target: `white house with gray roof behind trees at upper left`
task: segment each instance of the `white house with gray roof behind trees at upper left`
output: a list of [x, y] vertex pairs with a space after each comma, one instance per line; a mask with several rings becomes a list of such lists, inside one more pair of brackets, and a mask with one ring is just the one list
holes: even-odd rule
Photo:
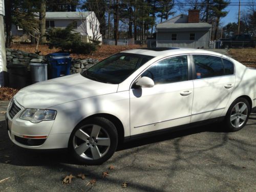
[[[36, 13], [38, 15], [38, 13]], [[75, 31], [81, 34], [82, 40], [89, 42], [90, 39], [102, 41], [99, 32], [99, 20], [93, 11], [87, 12], [46, 12], [46, 29], [66, 28], [72, 22], [76, 22]], [[12, 26], [12, 36], [24, 35], [24, 30], [19, 26]]]

